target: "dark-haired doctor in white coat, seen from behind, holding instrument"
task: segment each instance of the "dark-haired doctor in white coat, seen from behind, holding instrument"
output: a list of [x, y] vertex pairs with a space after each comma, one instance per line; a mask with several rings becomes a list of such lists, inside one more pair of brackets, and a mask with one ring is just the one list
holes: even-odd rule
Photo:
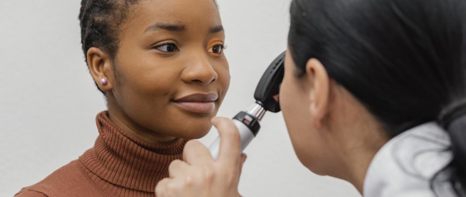
[[[466, 1], [293, 0], [280, 104], [299, 160], [364, 197], [466, 196]], [[190, 141], [157, 197], [238, 197], [233, 123]], [[304, 194], [303, 194], [304, 195]]]

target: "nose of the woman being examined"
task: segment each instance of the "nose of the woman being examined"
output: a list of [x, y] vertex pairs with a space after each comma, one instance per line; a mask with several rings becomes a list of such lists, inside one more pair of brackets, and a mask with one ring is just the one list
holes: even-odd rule
[[181, 73], [185, 83], [197, 83], [207, 86], [217, 80], [218, 74], [207, 58], [192, 59]]

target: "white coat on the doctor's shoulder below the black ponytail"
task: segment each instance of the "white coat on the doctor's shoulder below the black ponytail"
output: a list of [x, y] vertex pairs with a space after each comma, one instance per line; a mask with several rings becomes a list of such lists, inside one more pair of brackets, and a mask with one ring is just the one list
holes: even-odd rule
[[375, 155], [364, 179], [364, 197], [456, 197], [451, 184], [430, 179], [452, 160], [448, 133], [430, 122], [405, 131]]

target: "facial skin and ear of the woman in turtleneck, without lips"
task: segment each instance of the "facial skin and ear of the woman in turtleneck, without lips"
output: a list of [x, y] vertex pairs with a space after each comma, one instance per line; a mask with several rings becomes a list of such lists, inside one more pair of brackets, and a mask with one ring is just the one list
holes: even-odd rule
[[[147, 143], [204, 136], [230, 82], [224, 39], [213, 0], [144, 0], [132, 7], [120, 26], [116, 57], [95, 47], [87, 52], [111, 121]], [[174, 102], [208, 93], [218, 96], [209, 112]]]

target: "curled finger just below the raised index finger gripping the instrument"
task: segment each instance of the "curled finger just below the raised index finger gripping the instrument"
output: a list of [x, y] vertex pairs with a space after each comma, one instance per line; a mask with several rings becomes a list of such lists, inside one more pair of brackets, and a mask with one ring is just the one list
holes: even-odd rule
[[190, 140], [186, 143], [183, 158], [188, 164], [208, 164], [214, 161], [209, 149], [197, 140]]

